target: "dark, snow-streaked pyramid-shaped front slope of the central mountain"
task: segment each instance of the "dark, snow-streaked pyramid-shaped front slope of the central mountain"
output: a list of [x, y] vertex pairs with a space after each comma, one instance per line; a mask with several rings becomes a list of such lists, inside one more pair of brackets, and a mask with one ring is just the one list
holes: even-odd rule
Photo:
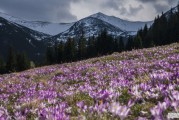
[[87, 17], [76, 22], [72, 27], [70, 27], [65, 32], [62, 32], [56, 36], [51, 37], [51, 40], [66, 40], [69, 37], [78, 38], [84, 32], [86, 38], [90, 36], [97, 36], [101, 30], [106, 29], [108, 34], [113, 36], [119, 36], [124, 31], [120, 28], [115, 27], [107, 22], [104, 22], [100, 19]]

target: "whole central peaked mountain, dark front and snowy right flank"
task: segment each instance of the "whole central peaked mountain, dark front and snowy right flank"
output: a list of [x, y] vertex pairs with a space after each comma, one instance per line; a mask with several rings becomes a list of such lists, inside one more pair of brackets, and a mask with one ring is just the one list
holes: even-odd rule
[[[67, 40], [69, 37], [78, 38], [82, 31], [86, 38], [97, 36], [101, 30], [106, 29], [108, 34], [115, 37], [135, 35], [145, 24], [150, 26], [153, 22], [131, 22], [103, 13], [96, 13], [74, 23], [68, 30], [47, 38], [51, 41]], [[45, 39], [45, 40], [47, 40]]]

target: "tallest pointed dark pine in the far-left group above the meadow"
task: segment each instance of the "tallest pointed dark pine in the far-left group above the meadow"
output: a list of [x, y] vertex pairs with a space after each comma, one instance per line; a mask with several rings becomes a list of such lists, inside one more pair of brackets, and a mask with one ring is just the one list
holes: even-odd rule
[[17, 68], [16, 54], [14, 53], [12, 47], [9, 48], [8, 58], [6, 63], [6, 70], [8, 72], [15, 72]]

